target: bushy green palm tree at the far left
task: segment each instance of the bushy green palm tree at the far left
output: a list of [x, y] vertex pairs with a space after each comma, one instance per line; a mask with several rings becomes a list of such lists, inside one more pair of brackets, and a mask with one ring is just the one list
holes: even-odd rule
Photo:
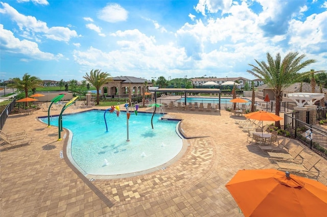
[[[24, 90], [25, 97], [29, 96], [29, 90], [40, 87], [40, 84], [42, 84], [42, 80], [40, 78], [31, 76], [28, 73], [24, 74], [21, 80], [19, 77], [14, 77], [12, 80], [13, 83], [9, 84], [8, 86], [17, 88], [18, 90]], [[28, 106], [28, 102], [26, 102], [26, 106]]]

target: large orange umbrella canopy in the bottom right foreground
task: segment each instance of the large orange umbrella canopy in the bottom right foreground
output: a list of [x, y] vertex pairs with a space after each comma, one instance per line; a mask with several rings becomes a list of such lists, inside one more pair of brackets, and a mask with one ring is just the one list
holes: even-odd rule
[[275, 169], [239, 170], [226, 184], [245, 216], [325, 216], [327, 186]]

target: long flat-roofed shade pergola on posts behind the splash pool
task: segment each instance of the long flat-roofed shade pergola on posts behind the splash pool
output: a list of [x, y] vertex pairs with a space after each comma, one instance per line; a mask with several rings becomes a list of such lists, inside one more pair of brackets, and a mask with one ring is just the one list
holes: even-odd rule
[[[220, 89], [209, 89], [209, 88], [199, 88], [199, 89], [185, 89], [185, 88], [160, 88], [156, 90], [150, 90], [151, 92], [169, 92], [169, 93], [184, 93], [184, 100], [186, 104], [186, 98], [188, 93], [218, 93], [219, 95], [219, 110], [220, 110]], [[157, 102], [157, 95], [154, 94], [154, 102]]]

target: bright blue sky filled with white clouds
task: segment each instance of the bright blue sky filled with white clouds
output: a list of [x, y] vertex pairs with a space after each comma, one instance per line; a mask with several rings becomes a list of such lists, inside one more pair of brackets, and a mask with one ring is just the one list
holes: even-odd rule
[[327, 70], [327, 1], [0, 0], [0, 79], [254, 77], [266, 53]]

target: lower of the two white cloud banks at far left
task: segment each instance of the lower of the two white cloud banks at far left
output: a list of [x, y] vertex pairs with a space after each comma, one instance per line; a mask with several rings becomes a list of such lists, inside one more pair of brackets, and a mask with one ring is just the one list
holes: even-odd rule
[[0, 44], [3, 52], [19, 53], [26, 56], [26, 60], [59, 60], [63, 56], [61, 53], [53, 55], [53, 53], [42, 52], [37, 43], [28, 40], [19, 40], [14, 34], [4, 29], [4, 25], [0, 24]]

